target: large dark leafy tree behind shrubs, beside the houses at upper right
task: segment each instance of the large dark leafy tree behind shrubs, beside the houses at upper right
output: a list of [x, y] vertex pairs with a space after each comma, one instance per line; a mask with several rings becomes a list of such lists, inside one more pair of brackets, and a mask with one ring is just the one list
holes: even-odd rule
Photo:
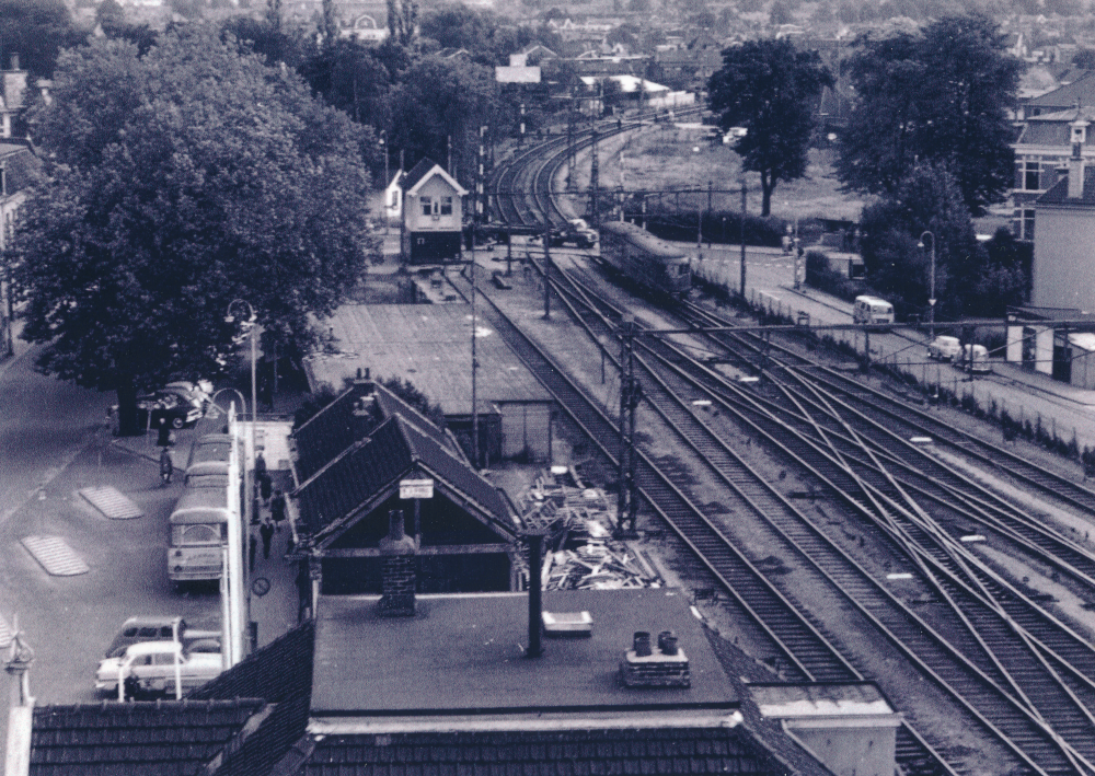
[[1019, 62], [984, 16], [948, 16], [920, 34], [864, 42], [852, 57], [855, 101], [838, 173], [852, 188], [894, 194], [915, 164], [944, 164], [975, 216], [1014, 177]]

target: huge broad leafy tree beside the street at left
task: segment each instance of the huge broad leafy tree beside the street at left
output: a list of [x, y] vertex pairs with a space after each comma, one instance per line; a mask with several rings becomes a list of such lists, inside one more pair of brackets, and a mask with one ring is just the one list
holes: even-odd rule
[[31, 121], [48, 165], [14, 239], [23, 336], [47, 372], [116, 390], [124, 431], [139, 389], [218, 368], [232, 300], [303, 348], [376, 255], [356, 125], [207, 28], [62, 54]]

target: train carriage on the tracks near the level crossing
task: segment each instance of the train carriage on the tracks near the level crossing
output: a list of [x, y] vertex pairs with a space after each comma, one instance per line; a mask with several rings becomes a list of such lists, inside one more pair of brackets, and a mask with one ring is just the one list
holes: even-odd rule
[[627, 221], [601, 224], [601, 260], [657, 293], [681, 298], [692, 288], [691, 259], [684, 251]]

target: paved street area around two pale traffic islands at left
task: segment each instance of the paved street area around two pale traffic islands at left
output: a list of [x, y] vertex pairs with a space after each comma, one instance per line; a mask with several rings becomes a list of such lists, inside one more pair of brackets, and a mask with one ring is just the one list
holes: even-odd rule
[[[208, 623], [217, 591], [181, 595], [169, 584], [166, 516], [182, 486], [161, 487], [154, 462], [108, 444], [114, 395], [36, 373], [25, 344], [16, 352], [0, 366], [0, 616], [18, 615], [35, 650], [38, 704], [90, 702], [99, 658], [127, 616]], [[78, 495], [89, 485], [113, 485], [145, 516], [107, 520]], [[32, 534], [62, 537], [90, 571], [48, 576], [20, 544]]]

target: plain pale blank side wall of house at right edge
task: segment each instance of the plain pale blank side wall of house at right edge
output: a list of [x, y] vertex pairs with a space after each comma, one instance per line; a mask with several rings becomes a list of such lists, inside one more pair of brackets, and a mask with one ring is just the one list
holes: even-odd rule
[[1095, 312], [1095, 209], [1044, 206], [1036, 218], [1030, 304]]

